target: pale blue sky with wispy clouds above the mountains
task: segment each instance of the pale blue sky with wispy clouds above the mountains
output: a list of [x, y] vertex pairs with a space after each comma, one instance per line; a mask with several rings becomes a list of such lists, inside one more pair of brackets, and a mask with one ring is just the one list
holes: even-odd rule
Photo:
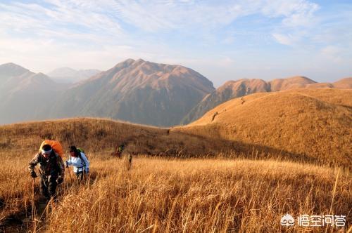
[[228, 80], [352, 76], [352, 1], [0, 0], [0, 64], [110, 69], [128, 58]]

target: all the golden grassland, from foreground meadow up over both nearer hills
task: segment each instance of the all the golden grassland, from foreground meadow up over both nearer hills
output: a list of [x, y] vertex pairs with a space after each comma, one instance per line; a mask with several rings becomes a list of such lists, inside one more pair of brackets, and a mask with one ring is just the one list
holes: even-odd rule
[[[326, 231], [352, 232], [351, 101], [351, 90], [258, 93], [170, 129], [89, 118], [0, 126], [0, 231], [325, 231], [282, 227], [289, 213], [346, 215], [344, 229]], [[27, 171], [44, 139], [92, 162], [85, 185], [66, 171], [46, 211]], [[132, 166], [111, 157], [120, 143]]]

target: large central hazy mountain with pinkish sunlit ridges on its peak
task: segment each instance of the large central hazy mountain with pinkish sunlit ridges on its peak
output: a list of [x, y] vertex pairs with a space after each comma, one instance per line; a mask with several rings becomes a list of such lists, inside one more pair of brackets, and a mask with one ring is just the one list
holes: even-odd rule
[[213, 84], [192, 69], [144, 60], [125, 60], [73, 86], [52, 116], [103, 116], [139, 124], [179, 124]]

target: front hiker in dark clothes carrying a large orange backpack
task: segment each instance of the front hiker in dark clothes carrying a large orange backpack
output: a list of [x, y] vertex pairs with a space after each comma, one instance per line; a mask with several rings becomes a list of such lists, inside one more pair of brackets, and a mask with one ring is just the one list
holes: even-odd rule
[[42, 195], [49, 200], [56, 199], [56, 187], [63, 182], [65, 166], [61, 157], [56, 154], [51, 145], [43, 145], [28, 164], [32, 178], [37, 178], [34, 168], [39, 164], [40, 190]]

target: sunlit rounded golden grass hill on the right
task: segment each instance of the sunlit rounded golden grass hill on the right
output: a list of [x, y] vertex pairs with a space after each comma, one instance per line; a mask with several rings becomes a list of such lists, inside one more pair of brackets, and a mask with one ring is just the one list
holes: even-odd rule
[[215, 107], [172, 131], [282, 149], [351, 167], [352, 90], [256, 93]]

